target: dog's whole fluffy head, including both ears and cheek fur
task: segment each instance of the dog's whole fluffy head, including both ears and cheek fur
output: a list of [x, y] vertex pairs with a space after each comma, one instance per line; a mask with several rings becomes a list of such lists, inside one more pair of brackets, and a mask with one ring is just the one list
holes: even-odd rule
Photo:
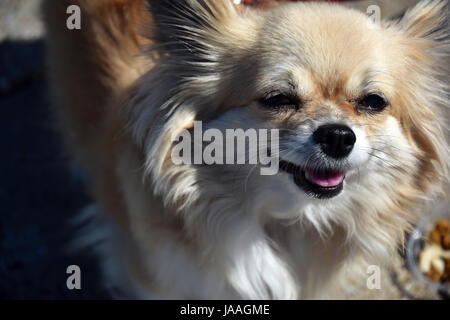
[[[211, 214], [401, 229], [406, 204], [439, 190], [448, 156], [444, 2], [422, 2], [380, 24], [332, 4], [150, 7], [159, 61], [142, 79], [130, 119], [167, 205], [186, 217], [217, 203]], [[224, 137], [227, 129], [277, 129], [279, 148], [269, 136], [258, 149], [279, 159], [279, 172], [174, 164], [175, 137], [194, 133], [196, 120]]]

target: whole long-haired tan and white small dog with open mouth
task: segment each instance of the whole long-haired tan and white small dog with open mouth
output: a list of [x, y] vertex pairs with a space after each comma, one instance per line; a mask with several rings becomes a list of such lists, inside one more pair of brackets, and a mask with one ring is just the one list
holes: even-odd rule
[[[72, 4], [80, 30], [66, 28]], [[140, 297], [365, 288], [447, 178], [446, 8], [423, 1], [377, 24], [330, 3], [48, 0], [58, 124], [121, 230], [108, 267]], [[278, 151], [257, 148], [279, 172], [175, 164], [195, 121], [277, 129]]]

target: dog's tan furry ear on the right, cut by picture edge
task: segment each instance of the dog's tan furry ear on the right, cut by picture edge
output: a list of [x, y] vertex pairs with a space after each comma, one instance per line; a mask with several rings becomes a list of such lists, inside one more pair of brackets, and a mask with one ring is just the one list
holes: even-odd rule
[[424, 191], [439, 191], [439, 182], [448, 181], [448, 74], [450, 42], [448, 3], [425, 0], [410, 9], [393, 27], [406, 36], [405, 62], [409, 76], [403, 86], [412, 94], [399, 97], [404, 114], [399, 115], [410, 140], [421, 157], [421, 176], [417, 184]]

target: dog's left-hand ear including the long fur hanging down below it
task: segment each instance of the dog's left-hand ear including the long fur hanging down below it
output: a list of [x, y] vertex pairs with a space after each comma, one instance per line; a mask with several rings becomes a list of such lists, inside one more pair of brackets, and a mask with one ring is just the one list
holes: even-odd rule
[[[189, 128], [193, 119], [208, 118], [209, 112], [213, 113], [220, 105], [218, 88], [227, 85], [226, 75], [230, 71], [227, 68], [241, 65], [230, 60], [243, 59], [244, 54], [236, 52], [248, 49], [256, 33], [248, 32], [254, 29], [250, 26], [252, 19], [244, 18], [251, 12], [240, 12], [228, 0], [148, 0], [148, 3], [153, 19], [150, 37], [159, 61], [142, 80], [145, 83], [137, 90], [128, 114], [140, 145], [146, 144], [149, 124], [159, 117], [160, 123], [166, 124], [164, 141], [171, 141], [172, 135], [176, 135], [175, 128]], [[201, 106], [208, 108], [198, 115], [196, 110]], [[144, 110], [147, 111], [142, 115]], [[178, 121], [180, 114], [184, 122], [174, 126], [171, 121]], [[163, 150], [168, 149], [159, 152]], [[148, 162], [152, 159], [149, 156]], [[161, 166], [162, 163], [156, 167]]]

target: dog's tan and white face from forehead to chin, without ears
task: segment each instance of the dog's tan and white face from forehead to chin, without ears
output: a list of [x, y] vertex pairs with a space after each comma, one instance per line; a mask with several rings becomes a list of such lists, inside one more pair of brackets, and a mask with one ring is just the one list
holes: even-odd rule
[[331, 199], [376, 163], [385, 171], [416, 165], [394, 110], [407, 66], [393, 35], [335, 6], [286, 5], [263, 19], [253, 67], [231, 81], [249, 110], [230, 113], [280, 130], [281, 176], [299, 193]]

